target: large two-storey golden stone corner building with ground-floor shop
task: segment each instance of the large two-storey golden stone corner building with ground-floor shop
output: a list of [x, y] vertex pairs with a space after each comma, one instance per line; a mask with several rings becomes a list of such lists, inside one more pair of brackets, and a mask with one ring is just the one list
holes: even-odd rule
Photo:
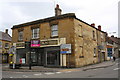
[[[59, 5], [55, 16], [12, 27], [12, 43], [16, 44], [16, 61], [23, 59], [29, 64], [29, 50], [26, 41], [31, 44], [32, 65], [53, 67], [81, 67], [106, 60], [106, 32], [101, 26], [88, 24], [74, 13], [61, 14]], [[71, 54], [61, 54], [61, 44], [71, 44]]]

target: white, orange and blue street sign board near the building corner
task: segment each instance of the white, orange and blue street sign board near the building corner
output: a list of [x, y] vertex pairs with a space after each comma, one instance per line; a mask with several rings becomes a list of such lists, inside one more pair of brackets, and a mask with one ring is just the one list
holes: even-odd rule
[[71, 53], [71, 44], [62, 44], [60, 46], [60, 53], [65, 54], [65, 53]]

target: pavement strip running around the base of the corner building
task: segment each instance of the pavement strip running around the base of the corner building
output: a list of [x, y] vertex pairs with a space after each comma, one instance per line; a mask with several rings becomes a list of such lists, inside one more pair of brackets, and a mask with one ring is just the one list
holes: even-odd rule
[[2, 65], [2, 71], [15, 71], [15, 72], [66, 72], [66, 71], [86, 71], [90, 69], [97, 68], [106, 68], [109, 66], [113, 66], [115, 62], [113, 61], [105, 61], [98, 64], [88, 65], [81, 68], [47, 68], [43, 66], [32, 66], [32, 69], [29, 70], [29, 67], [21, 67], [20, 69], [9, 69], [8, 64]]

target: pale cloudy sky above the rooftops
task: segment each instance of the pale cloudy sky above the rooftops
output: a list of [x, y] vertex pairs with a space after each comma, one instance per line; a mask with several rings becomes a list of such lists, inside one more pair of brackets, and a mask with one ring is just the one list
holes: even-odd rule
[[[0, 0], [0, 31], [55, 15], [59, 4], [62, 14], [75, 13], [76, 17], [102, 26], [109, 36], [118, 36], [118, 2], [120, 0]], [[116, 32], [116, 33], [115, 33]]]

